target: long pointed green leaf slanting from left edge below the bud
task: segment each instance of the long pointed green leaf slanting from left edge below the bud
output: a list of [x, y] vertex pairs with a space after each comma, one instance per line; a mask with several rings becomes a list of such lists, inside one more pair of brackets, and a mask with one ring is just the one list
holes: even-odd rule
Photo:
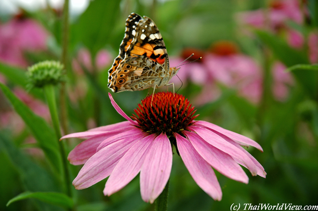
[[43, 118], [36, 115], [28, 106], [24, 105], [6, 86], [0, 83], [0, 88], [14, 107], [14, 110], [29, 127], [54, 170], [56, 172], [61, 172], [62, 162], [58, 150], [58, 138], [52, 128]]

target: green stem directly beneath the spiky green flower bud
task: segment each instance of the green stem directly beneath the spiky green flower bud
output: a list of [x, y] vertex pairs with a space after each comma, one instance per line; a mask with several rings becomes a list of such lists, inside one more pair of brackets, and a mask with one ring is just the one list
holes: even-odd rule
[[48, 106], [50, 109], [54, 131], [55, 131], [55, 134], [58, 138], [57, 141], [59, 143], [60, 154], [62, 156], [63, 169], [61, 170], [62, 171], [61, 174], [64, 175], [66, 193], [68, 194], [68, 196], [72, 197], [71, 196], [71, 187], [70, 187], [71, 181], [70, 181], [70, 174], [69, 174], [69, 169], [68, 169], [68, 160], [66, 158], [64, 144], [63, 144], [63, 142], [59, 141], [59, 139], [62, 137], [62, 135], [61, 135], [60, 121], [59, 121], [58, 111], [57, 111], [56, 101], [55, 101], [54, 86], [49, 84], [49, 85], [44, 86], [43, 89], [44, 89], [45, 97], [46, 97], [46, 100], [47, 100], [47, 103], [48, 103]]

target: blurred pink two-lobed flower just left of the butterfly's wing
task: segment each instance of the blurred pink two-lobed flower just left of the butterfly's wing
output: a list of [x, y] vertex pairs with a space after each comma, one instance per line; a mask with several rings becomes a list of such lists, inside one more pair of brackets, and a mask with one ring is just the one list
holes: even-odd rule
[[[97, 70], [104, 69], [111, 62], [111, 55], [106, 50], [100, 50], [96, 54], [95, 65]], [[78, 52], [77, 58], [74, 58], [72, 61], [73, 69], [78, 74], [83, 74], [83, 67], [85, 67], [88, 71], [92, 71], [93, 65], [91, 63], [91, 55], [87, 49], [80, 49]]]

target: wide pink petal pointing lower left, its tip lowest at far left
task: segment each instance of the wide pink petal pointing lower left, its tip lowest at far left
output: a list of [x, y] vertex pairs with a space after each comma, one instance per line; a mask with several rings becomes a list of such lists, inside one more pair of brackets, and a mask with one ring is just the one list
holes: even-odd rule
[[89, 158], [73, 181], [75, 188], [88, 188], [108, 177], [119, 160], [138, 142], [138, 140], [134, 139], [135, 135], [132, 133], [130, 138], [114, 142]]

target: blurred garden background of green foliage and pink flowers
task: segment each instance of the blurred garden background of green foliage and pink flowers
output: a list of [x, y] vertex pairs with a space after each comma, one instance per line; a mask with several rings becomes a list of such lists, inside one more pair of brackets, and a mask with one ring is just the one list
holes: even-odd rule
[[[42, 91], [34, 89], [21, 94], [19, 90], [25, 90], [28, 65], [61, 59], [62, 6], [49, 3], [37, 9], [16, 7], [13, 13], [0, 10], [0, 81], [33, 112], [38, 112], [49, 129], [51, 122], [45, 114]], [[196, 113], [200, 114], [197, 120], [250, 137], [264, 150], [261, 153], [252, 147], [247, 149], [263, 165], [266, 179], [252, 177], [244, 169], [249, 177], [246, 185], [216, 172], [223, 191], [220, 202], [197, 186], [181, 158], [174, 154], [168, 210], [230, 210], [233, 203], [318, 205], [318, 75], [317, 66], [312, 65], [318, 61], [317, 0], [88, 1], [82, 12], [70, 15], [66, 65], [69, 133], [124, 121], [110, 104], [107, 71], [117, 56], [125, 20], [131, 12], [155, 21], [171, 64], [191, 53], [203, 56], [191, 66], [182, 66], [178, 74], [183, 82], [178, 93], [196, 106]], [[37, 28], [22, 33], [26, 20], [40, 26], [41, 33]], [[15, 26], [14, 21], [19, 25]], [[40, 39], [32, 33], [45, 37], [42, 46], [32, 44]], [[99, 57], [101, 51], [104, 57]], [[282, 66], [281, 72], [274, 68], [277, 62]], [[297, 64], [302, 65], [294, 66]], [[290, 72], [284, 72], [290, 67]], [[206, 78], [197, 80], [192, 71]], [[178, 79], [174, 82], [179, 89]], [[130, 115], [147, 92], [112, 96]], [[24, 191], [60, 192], [61, 187], [40, 144], [32, 141], [42, 120], [23, 123], [2, 92], [0, 120], [0, 210], [63, 210], [36, 199], [5, 206]], [[42, 132], [43, 136], [35, 136], [37, 141], [52, 131]], [[79, 142], [70, 140], [67, 151]], [[72, 179], [80, 167], [71, 166]], [[154, 205], [141, 199], [139, 175], [110, 197], [102, 193], [105, 181], [84, 190], [73, 188], [77, 211], [154, 210]]]

